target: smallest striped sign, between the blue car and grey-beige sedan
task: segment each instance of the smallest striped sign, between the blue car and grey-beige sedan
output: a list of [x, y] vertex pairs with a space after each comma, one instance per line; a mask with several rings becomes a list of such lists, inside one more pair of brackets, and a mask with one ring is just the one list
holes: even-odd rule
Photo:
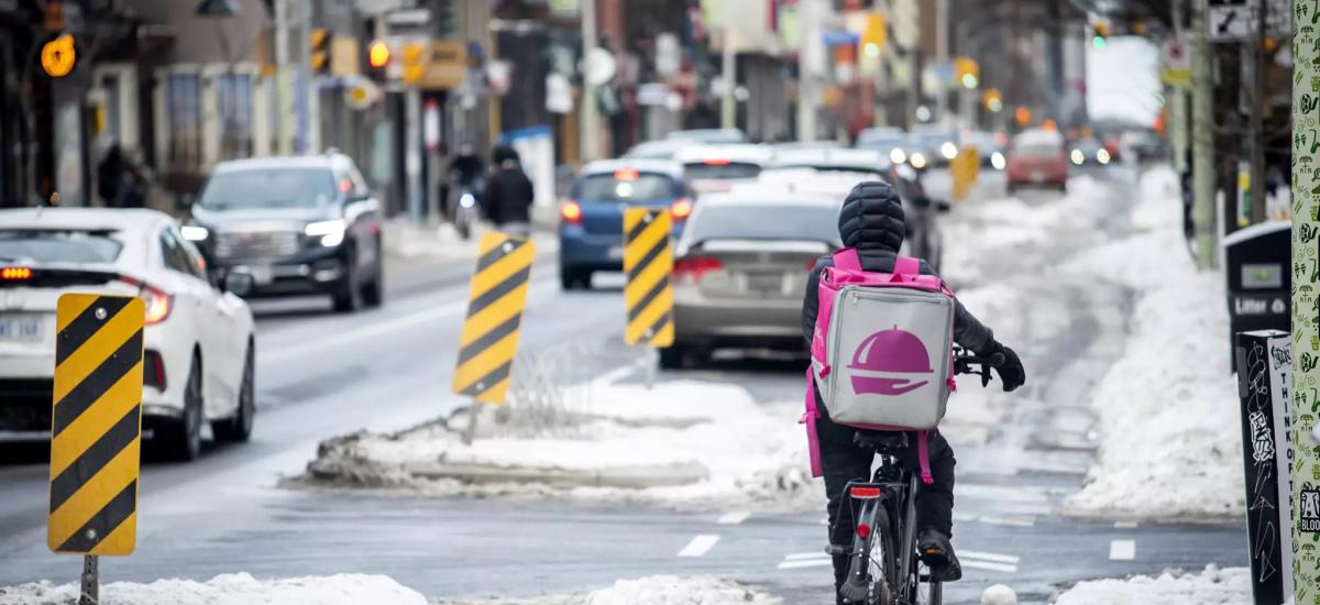
[[665, 210], [635, 207], [623, 213], [623, 271], [628, 276], [623, 287], [628, 313], [623, 341], [628, 345], [673, 345], [671, 226]]

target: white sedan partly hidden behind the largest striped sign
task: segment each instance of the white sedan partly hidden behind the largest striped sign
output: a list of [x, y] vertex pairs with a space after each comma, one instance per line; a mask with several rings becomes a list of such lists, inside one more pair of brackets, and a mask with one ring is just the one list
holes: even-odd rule
[[[228, 285], [243, 288], [243, 277]], [[145, 302], [143, 420], [153, 441], [193, 460], [205, 421], [216, 440], [247, 441], [252, 312], [207, 280], [178, 223], [154, 210], [0, 210], [0, 431], [50, 429], [55, 302], [69, 292]]]

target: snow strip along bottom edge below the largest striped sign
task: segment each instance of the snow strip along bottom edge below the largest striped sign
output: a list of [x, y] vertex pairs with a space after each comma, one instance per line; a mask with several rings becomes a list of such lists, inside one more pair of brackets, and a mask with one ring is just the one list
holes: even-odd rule
[[[78, 585], [50, 581], [0, 587], [4, 605], [63, 605], [78, 601]], [[150, 584], [114, 583], [100, 588], [106, 605], [426, 605], [426, 597], [385, 576], [337, 575], [257, 580], [248, 573], [224, 573], [205, 583], [157, 580]]]

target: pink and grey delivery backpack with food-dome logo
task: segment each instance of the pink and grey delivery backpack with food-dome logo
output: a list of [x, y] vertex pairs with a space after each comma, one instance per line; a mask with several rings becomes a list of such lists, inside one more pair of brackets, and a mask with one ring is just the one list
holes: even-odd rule
[[921, 262], [899, 256], [892, 273], [862, 271], [857, 250], [834, 252], [821, 272], [820, 312], [807, 369], [807, 437], [821, 476], [812, 383], [830, 420], [867, 431], [916, 431], [921, 481], [931, 483], [928, 431], [944, 419], [953, 382], [953, 291]]

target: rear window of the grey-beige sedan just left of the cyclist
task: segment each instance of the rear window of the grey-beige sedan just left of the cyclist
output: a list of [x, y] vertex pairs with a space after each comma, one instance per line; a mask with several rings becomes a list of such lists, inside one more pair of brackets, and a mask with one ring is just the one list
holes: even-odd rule
[[702, 207], [688, 222], [690, 242], [711, 239], [838, 240], [838, 209], [818, 205], [729, 203]]

